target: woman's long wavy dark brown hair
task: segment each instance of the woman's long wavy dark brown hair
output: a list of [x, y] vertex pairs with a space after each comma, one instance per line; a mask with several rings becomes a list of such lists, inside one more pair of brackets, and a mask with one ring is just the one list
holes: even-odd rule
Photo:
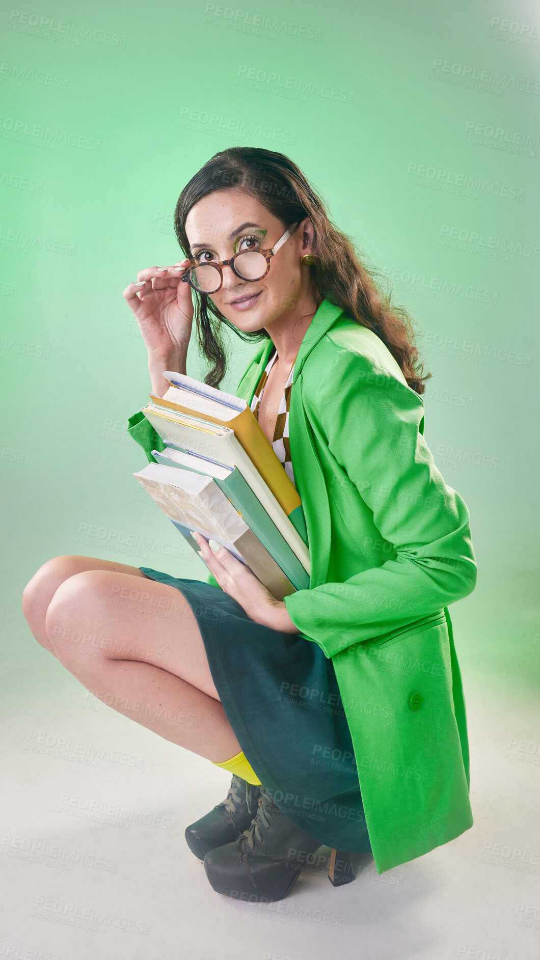
[[[174, 226], [185, 256], [190, 257], [185, 233], [185, 218], [191, 207], [215, 190], [237, 190], [256, 197], [282, 221], [283, 229], [306, 217], [314, 228], [315, 262], [309, 267], [313, 295], [320, 304], [331, 300], [358, 324], [373, 330], [399, 364], [409, 387], [417, 394], [426, 390], [424, 381], [431, 373], [421, 368], [419, 351], [414, 346], [412, 322], [402, 306], [392, 303], [392, 293], [384, 289], [389, 281], [366, 257], [360, 259], [354, 242], [336, 228], [320, 197], [302, 170], [288, 156], [258, 147], [231, 147], [210, 157], [184, 186], [176, 204]], [[377, 276], [377, 279], [376, 279]], [[252, 333], [238, 330], [217, 309], [207, 294], [195, 294], [195, 321], [199, 347], [209, 366], [205, 382], [219, 387], [227, 372], [227, 355], [221, 331], [230, 327], [244, 341], [268, 340], [263, 328]]]

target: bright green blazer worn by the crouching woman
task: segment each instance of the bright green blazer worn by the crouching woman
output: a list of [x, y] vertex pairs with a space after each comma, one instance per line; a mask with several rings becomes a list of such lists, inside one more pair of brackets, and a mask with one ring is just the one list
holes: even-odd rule
[[[272, 348], [259, 345], [240, 379], [248, 403]], [[140, 411], [128, 429], [153, 460], [164, 444]], [[448, 612], [476, 585], [470, 516], [424, 440], [422, 397], [380, 338], [329, 300], [295, 361], [289, 433], [311, 574], [284, 602], [333, 662], [383, 873], [473, 825]]]

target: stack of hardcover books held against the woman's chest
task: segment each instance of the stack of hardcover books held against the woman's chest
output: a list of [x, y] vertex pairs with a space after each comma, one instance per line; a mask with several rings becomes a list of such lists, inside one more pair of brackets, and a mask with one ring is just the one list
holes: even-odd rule
[[300, 496], [246, 400], [163, 372], [162, 397], [142, 407], [165, 445], [134, 476], [198, 553], [190, 531], [217, 540], [277, 600], [309, 588]]

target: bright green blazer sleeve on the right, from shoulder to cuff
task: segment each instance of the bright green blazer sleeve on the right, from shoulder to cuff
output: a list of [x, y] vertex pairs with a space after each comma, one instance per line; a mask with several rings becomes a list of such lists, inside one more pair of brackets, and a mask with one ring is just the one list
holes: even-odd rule
[[415, 391], [377, 361], [339, 350], [306, 395], [307, 416], [334, 469], [355, 484], [395, 553], [344, 583], [285, 597], [298, 630], [331, 658], [467, 596], [477, 565], [469, 512], [434, 463]]

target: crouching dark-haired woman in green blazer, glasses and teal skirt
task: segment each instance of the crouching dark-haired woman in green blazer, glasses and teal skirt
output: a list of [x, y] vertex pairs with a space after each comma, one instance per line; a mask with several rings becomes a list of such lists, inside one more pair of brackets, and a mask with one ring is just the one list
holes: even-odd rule
[[[226, 372], [223, 325], [258, 343], [236, 393], [300, 493], [309, 589], [279, 602], [195, 534], [207, 582], [58, 557], [23, 609], [89, 690], [144, 726], [158, 713], [152, 729], [233, 774], [187, 843], [218, 893], [280, 900], [321, 845], [338, 884], [354, 878], [352, 853], [371, 849], [381, 872], [472, 825], [446, 606], [475, 587], [469, 514], [423, 438], [430, 374], [408, 317], [296, 164], [255, 148], [213, 156], [175, 228], [186, 258], [124, 290], [152, 392], [167, 390], [163, 371], [186, 372], [192, 297], [211, 386]], [[128, 428], [154, 460], [164, 444], [140, 411]], [[69, 640], [86, 628], [91, 651]]]

